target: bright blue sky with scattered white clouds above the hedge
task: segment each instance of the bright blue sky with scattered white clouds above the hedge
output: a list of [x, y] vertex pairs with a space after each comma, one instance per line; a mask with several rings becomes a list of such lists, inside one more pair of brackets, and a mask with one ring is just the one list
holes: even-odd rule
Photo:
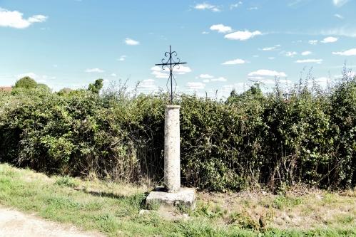
[[356, 69], [355, 0], [0, 0], [0, 85], [30, 75], [54, 90], [96, 78], [146, 93], [166, 88], [154, 67], [172, 45], [187, 65], [178, 90], [198, 95], [297, 83]]

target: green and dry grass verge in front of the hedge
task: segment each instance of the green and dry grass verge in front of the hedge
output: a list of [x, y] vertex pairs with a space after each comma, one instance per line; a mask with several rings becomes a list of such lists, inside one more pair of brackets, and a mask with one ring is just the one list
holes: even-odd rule
[[[92, 236], [99, 232], [105, 236], [356, 236], [355, 190], [198, 192], [195, 211], [178, 207], [173, 216], [183, 212], [190, 216], [179, 219], [159, 214], [159, 206], [145, 206], [149, 190], [142, 185], [48, 177], [0, 164], [0, 205], [35, 221], [24, 226], [29, 231], [44, 223], [41, 227], [49, 226], [59, 234], [73, 231], [66, 236], [86, 234], [71, 226], [96, 231]], [[5, 212], [0, 211], [4, 218]], [[4, 230], [1, 224], [0, 229]]]

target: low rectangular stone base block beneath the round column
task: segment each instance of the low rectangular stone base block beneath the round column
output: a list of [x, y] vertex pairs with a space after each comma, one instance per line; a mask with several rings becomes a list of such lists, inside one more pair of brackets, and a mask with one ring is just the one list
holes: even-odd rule
[[159, 204], [160, 208], [187, 208], [195, 209], [195, 189], [181, 188], [176, 193], [163, 191], [162, 187], [156, 188], [146, 198], [146, 205]]

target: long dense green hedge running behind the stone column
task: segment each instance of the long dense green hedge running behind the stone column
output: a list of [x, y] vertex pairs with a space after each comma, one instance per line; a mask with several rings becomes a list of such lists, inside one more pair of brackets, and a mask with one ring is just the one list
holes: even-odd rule
[[[258, 86], [228, 100], [181, 95], [182, 182], [206, 190], [355, 186], [356, 79], [288, 95]], [[156, 183], [169, 98], [39, 88], [0, 94], [0, 161], [76, 176]]]

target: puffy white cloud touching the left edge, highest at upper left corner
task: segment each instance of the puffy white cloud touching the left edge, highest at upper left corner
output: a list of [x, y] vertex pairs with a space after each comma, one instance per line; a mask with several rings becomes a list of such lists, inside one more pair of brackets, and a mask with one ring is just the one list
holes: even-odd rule
[[0, 26], [3, 27], [27, 28], [32, 23], [44, 22], [47, 18], [47, 16], [35, 15], [29, 19], [24, 19], [23, 14], [19, 11], [9, 11], [0, 8]]

